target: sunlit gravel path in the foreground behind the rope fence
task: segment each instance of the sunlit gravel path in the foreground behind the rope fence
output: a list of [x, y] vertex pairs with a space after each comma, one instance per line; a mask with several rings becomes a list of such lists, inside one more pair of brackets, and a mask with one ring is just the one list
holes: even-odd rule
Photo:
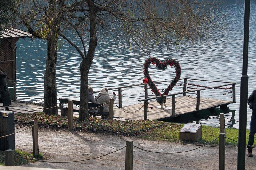
[[[39, 130], [39, 152], [50, 161], [72, 161], [97, 157], [113, 152], [125, 146], [125, 141], [134, 141], [134, 145], [158, 151], [180, 152], [198, 146], [182, 145], [164, 141], [151, 141], [141, 138], [110, 136], [87, 132], [66, 130]], [[33, 152], [32, 130], [15, 135], [16, 149]], [[178, 154], [150, 153], [134, 148], [133, 169], [218, 169], [219, 148], [203, 147], [191, 152]], [[225, 169], [236, 169], [237, 148], [225, 150]], [[24, 166], [60, 168], [60, 169], [124, 169], [125, 148], [110, 155], [77, 163], [33, 163]], [[246, 156], [246, 169], [256, 169], [256, 156]]]

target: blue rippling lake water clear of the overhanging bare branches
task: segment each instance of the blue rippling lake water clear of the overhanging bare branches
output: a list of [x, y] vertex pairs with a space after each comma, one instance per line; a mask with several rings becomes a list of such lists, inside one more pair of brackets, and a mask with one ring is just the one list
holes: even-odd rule
[[[180, 49], [171, 47], [168, 50], [151, 51], [150, 56], [165, 60], [167, 57], [180, 62], [181, 77], [207, 79], [216, 81], [236, 82], [236, 103], [228, 105], [230, 111], [225, 113], [228, 118], [239, 119], [239, 91], [240, 76], [242, 74], [243, 57], [243, 29], [244, 29], [244, 1], [227, 1], [221, 4], [220, 11], [225, 15], [218, 22], [226, 24], [225, 31], [214, 32], [214, 37], [194, 46], [181, 46]], [[251, 1], [250, 11], [250, 38], [249, 38], [249, 90], [256, 89], [256, 1]], [[216, 15], [218, 11], [216, 10]], [[117, 87], [141, 83], [143, 79], [143, 63], [149, 56], [140, 48], [132, 46], [119, 39], [117, 43], [112, 38], [101, 36], [92, 62], [89, 74], [89, 85], [94, 90], [101, 87]], [[17, 98], [18, 100], [36, 101], [44, 96], [43, 75], [45, 71], [46, 43], [43, 40], [20, 39], [17, 42]], [[80, 55], [68, 44], [63, 44], [58, 52], [57, 60], [57, 91], [59, 97], [79, 98], [80, 89]], [[154, 81], [172, 79], [175, 75], [173, 69], [158, 71], [150, 67], [151, 77]], [[180, 81], [182, 82], [182, 81]], [[201, 85], [219, 85], [221, 83], [207, 83], [188, 81], [188, 83]], [[164, 89], [168, 83], [157, 84]], [[180, 92], [182, 87], [175, 87], [172, 92]], [[232, 93], [223, 95], [230, 90], [205, 90], [201, 97], [217, 98], [232, 101]], [[118, 93], [118, 91], [116, 91]], [[149, 97], [153, 94], [148, 91]], [[141, 87], [123, 89], [123, 106], [139, 103], [137, 100], [144, 97]], [[195, 93], [191, 96], [196, 96]], [[221, 110], [216, 109], [219, 113]], [[210, 112], [201, 114], [203, 118], [212, 117]], [[251, 110], [248, 107], [247, 123], [250, 123]], [[191, 116], [191, 118], [193, 118]], [[194, 119], [194, 118], [193, 118]], [[201, 121], [202, 124], [219, 126], [219, 119]], [[228, 127], [238, 128], [234, 121], [226, 120]], [[249, 126], [248, 126], [249, 127]], [[247, 128], [248, 128], [247, 127]]]

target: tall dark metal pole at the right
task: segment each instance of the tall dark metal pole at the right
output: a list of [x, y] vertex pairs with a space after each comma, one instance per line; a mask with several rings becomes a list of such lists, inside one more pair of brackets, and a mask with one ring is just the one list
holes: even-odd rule
[[249, 16], [250, 0], [244, 4], [244, 47], [243, 47], [243, 72], [241, 76], [240, 106], [239, 106], [239, 132], [237, 169], [245, 169], [245, 145], [246, 145], [246, 121], [247, 121], [247, 97], [248, 97], [248, 44], [249, 44]]

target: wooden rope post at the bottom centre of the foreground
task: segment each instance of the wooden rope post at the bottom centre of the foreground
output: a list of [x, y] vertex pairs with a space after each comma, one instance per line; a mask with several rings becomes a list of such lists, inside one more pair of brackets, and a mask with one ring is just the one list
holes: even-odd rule
[[125, 170], [132, 170], [133, 166], [133, 141], [126, 141]]

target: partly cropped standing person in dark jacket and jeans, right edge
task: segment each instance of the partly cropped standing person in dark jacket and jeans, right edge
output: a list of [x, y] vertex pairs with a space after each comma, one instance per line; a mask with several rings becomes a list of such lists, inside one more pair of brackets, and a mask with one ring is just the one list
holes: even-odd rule
[[[252, 94], [248, 97], [248, 105], [249, 108], [252, 109], [248, 145], [252, 146], [254, 142], [254, 135], [256, 132], [256, 90], [253, 90]], [[247, 146], [248, 156], [252, 157], [252, 147], [250, 146]]]

